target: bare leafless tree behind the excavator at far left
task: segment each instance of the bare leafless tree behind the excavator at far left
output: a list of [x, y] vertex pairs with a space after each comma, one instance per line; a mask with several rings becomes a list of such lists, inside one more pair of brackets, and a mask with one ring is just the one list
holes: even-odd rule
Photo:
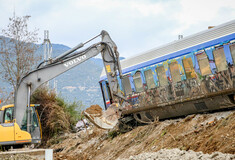
[[9, 18], [6, 29], [0, 37], [0, 74], [3, 81], [14, 91], [20, 79], [26, 75], [40, 59], [35, 54], [38, 42], [38, 29], [29, 31], [30, 16]]

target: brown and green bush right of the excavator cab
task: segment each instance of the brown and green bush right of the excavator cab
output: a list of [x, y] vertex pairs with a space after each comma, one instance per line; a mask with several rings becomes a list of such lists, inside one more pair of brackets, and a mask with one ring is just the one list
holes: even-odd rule
[[46, 87], [34, 92], [31, 97], [32, 104], [37, 107], [42, 126], [42, 145], [54, 136], [69, 133], [81, 118], [82, 102], [66, 103], [56, 93]]

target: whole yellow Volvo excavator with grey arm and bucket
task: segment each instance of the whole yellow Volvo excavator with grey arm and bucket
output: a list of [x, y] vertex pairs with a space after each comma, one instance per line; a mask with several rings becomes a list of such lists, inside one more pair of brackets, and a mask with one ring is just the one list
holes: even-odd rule
[[[99, 36], [102, 38], [100, 42], [78, 51], [79, 48], [82, 48], [85, 44]], [[45, 82], [99, 53], [101, 53], [106, 68], [112, 99], [123, 98], [118, 92], [119, 84], [117, 75], [119, 74], [121, 76], [122, 71], [117, 46], [109, 34], [106, 31], [102, 31], [99, 35], [85, 43], [78, 44], [62, 55], [48, 61], [43, 61], [37, 69], [31, 71], [21, 79], [15, 91], [14, 104], [2, 105], [0, 108], [0, 145], [13, 146], [40, 143], [42, 138], [41, 124], [36, 111], [37, 105], [30, 104], [31, 94]], [[111, 114], [113, 114], [112, 111]], [[86, 115], [101, 128], [112, 128], [117, 122], [117, 118], [114, 121], [111, 119], [106, 121], [104, 120], [106, 118], [104, 116], [102, 119], [94, 119], [89, 114]]]

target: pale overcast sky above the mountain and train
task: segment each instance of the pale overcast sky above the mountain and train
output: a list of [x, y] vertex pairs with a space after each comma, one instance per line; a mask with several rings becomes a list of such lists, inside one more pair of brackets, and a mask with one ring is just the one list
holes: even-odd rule
[[106, 30], [130, 57], [234, 20], [235, 0], [0, 0], [0, 29], [14, 10], [31, 15], [41, 42], [44, 30], [52, 43], [69, 47]]

